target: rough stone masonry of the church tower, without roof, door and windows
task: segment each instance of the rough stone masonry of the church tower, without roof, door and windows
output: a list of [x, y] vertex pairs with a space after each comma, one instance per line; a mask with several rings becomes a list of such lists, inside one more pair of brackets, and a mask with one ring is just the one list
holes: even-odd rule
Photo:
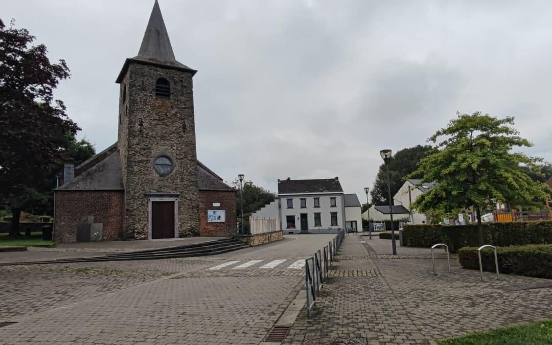
[[[169, 99], [155, 97], [158, 78], [169, 81]], [[145, 193], [179, 194], [179, 236], [199, 235], [192, 75], [131, 62], [121, 82], [119, 112], [126, 236], [147, 238], [148, 197]], [[167, 176], [159, 176], [153, 168], [153, 161], [160, 155], [173, 161], [173, 171]]]

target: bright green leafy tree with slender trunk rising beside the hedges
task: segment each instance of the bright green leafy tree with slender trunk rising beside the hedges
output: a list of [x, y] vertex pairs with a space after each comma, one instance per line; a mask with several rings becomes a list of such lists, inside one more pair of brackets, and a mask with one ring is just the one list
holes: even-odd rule
[[538, 172], [542, 160], [512, 151], [532, 146], [513, 125], [513, 117], [498, 119], [476, 112], [458, 114], [447, 128], [438, 130], [429, 138], [434, 153], [422, 158], [420, 167], [409, 176], [422, 175], [423, 183], [436, 181], [437, 185], [420, 195], [412, 208], [445, 214], [474, 208], [482, 245], [481, 213], [492, 209], [493, 200], [541, 207], [539, 200], [546, 198], [550, 189], [530, 177], [527, 168]]

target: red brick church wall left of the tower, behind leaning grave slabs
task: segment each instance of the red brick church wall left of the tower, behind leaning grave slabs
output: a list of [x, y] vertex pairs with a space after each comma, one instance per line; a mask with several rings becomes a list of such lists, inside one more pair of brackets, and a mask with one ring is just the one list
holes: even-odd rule
[[103, 223], [103, 240], [123, 237], [123, 190], [57, 190], [55, 242], [76, 242], [77, 226], [94, 216]]

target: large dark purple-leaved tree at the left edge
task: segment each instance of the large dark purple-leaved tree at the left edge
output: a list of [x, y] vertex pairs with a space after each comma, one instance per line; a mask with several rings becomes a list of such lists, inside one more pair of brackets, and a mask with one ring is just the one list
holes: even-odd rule
[[79, 128], [68, 119], [53, 91], [69, 77], [65, 61], [51, 63], [43, 44], [25, 29], [0, 20], [0, 202], [12, 211], [10, 235], [18, 235], [19, 215], [45, 201], [45, 181], [67, 158], [64, 135]]

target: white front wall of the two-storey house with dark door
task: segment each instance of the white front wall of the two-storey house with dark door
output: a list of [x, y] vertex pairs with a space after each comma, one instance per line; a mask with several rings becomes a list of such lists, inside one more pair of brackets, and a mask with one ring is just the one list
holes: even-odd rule
[[[310, 194], [280, 194], [280, 224], [284, 233], [301, 231], [301, 216], [306, 215], [306, 229], [311, 233], [336, 232], [344, 229], [344, 204], [343, 193], [310, 193]], [[319, 206], [315, 206], [315, 198], [319, 200]], [[335, 198], [335, 206], [331, 206], [331, 199]], [[304, 207], [301, 206], [304, 199]], [[291, 200], [291, 208], [288, 208], [288, 200]], [[337, 215], [337, 224], [331, 224], [332, 213]], [[320, 214], [320, 225], [315, 224], [315, 215]], [[295, 224], [288, 226], [288, 216], [293, 216]], [[304, 217], [304, 216], [303, 216]]]

